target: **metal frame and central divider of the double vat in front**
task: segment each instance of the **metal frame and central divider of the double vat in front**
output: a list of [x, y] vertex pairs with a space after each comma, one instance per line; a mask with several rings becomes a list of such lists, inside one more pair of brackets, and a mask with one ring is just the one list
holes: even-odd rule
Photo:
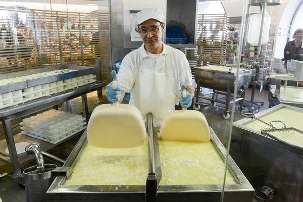
[[[149, 143], [149, 169], [146, 169], [146, 186], [121, 185], [118, 189], [109, 185], [64, 185], [65, 175], [58, 175], [47, 191], [48, 202], [63, 201], [219, 201], [222, 184], [218, 185], [159, 185], [162, 178], [158, 133], [151, 129], [151, 120], [147, 120]], [[211, 128], [210, 128], [211, 129]], [[151, 140], [153, 136], [153, 140]], [[67, 159], [64, 167], [73, 167], [87, 144], [86, 131]], [[211, 141], [222, 159], [226, 149], [211, 129]], [[153, 158], [154, 156], [154, 158]], [[241, 173], [234, 161], [229, 158], [228, 167], [238, 184], [227, 184], [224, 201], [251, 201], [254, 189]], [[147, 174], [148, 173], [148, 174]], [[156, 180], [156, 181], [155, 181]], [[113, 186], [115, 187], [115, 186]]]

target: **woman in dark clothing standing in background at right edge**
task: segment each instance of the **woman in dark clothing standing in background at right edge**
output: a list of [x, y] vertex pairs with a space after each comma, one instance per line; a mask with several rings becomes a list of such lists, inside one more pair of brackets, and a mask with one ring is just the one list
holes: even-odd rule
[[284, 48], [284, 59], [285, 65], [288, 60], [298, 60], [303, 61], [303, 48], [302, 48], [302, 38], [303, 29], [297, 29], [293, 33], [292, 37], [294, 40], [288, 41]]

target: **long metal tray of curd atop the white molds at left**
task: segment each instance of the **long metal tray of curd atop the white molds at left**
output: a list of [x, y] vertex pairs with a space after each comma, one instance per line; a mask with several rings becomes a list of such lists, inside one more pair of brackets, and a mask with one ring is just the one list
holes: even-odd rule
[[29, 88], [37, 85], [42, 85], [46, 83], [51, 83], [55, 81], [60, 81], [64, 79], [69, 79], [77, 76], [82, 76], [86, 74], [93, 74], [96, 72], [95, 67], [84, 67], [84, 66], [76, 66], [76, 65], [60, 65], [60, 66], [52, 66], [52, 67], [43, 67], [39, 69], [27, 70], [27, 71], [20, 71], [20, 72], [12, 72], [8, 74], [0, 74], [0, 80], [2, 79], [9, 79], [9, 78], [16, 78], [19, 76], [27, 76], [31, 74], [37, 74], [42, 72], [49, 72], [53, 70], [64, 70], [64, 69], [73, 69], [77, 70], [74, 72], [68, 72], [53, 76], [47, 76], [37, 79], [31, 79], [27, 81], [22, 81], [18, 83], [12, 83], [8, 85], [0, 86], [0, 94], [12, 92], [15, 90], [21, 90], [24, 88]]

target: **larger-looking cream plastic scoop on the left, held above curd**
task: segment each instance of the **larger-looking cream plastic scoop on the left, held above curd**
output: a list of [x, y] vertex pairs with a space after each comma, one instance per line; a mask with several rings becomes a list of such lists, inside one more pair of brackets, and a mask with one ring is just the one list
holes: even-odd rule
[[100, 105], [93, 110], [88, 121], [87, 141], [92, 146], [130, 148], [142, 145], [145, 139], [142, 115], [131, 105]]

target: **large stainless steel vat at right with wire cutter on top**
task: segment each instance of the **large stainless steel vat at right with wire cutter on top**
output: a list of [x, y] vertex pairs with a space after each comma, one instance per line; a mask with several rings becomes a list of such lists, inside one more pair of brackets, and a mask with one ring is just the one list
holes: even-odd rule
[[[281, 109], [290, 109], [303, 115], [301, 108], [280, 104], [256, 114], [256, 117], [260, 119]], [[230, 155], [258, 194], [264, 191], [264, 186], [269, 186], [273, 189], [274, 196], [279, 194], [280, 197], [284, 192], [281, 186], [288, 187], [287, 183], [297, 180], [293, 165], [303, 164], [303, 150], [283, 144], [262, 134], [260, 130], [247, 127], [247, 124], [253, 121], [255, 120], [244, 118], [233, 123]], [[280, 163], [277, 163], [279, 161]], [[287, 161], [291, 161], [292, 165], [288, 165]], [[299, 170], [301, 172], [301, 168]], [[280, 180], [271, 179], [273, 175], [279, 175]], [[288, 179], [282, 180], [284, 177]], [[281, 185], [282, 181], [284, 185]]]

